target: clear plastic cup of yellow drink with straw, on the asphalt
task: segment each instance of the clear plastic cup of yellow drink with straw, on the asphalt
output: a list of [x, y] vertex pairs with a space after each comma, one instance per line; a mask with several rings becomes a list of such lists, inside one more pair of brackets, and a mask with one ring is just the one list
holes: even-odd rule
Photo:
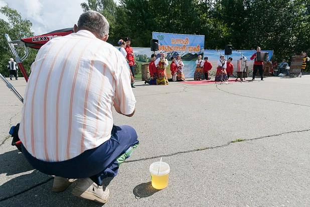
[[[166, 162], [154, 162], [149, 166], [150, 180], [155, 189], [161, 190], [168, 186], [170, 166]], [[159, 171], [160, 170], [160, 171]]]

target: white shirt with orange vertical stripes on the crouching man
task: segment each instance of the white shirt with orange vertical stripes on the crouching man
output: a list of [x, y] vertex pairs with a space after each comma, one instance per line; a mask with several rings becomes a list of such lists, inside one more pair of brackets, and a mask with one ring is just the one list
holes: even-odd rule
[[124, 56], [86, 30], [54, 38], [32, 64], [19, 137], [37, 159], [74, 158], [110, 139], [113, 99], [121, 113], [133, 113]]

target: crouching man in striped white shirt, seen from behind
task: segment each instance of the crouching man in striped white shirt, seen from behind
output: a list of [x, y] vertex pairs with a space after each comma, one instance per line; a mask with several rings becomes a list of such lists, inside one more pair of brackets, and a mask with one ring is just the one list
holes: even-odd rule
[[18, 134], [26, 159], [56, 176], [53, 191], [80, 179], [72, 193], [102, 203], [109, 197], [102, 179], [116, 176], [139, 143], [133, 128], [113, 125], [112, 107], [131, 117], [136, 100], [126, 59], [106, 43], [108, 31], [107, 20], [88, 11], [74, 25], [75, 33], [42, 46]]

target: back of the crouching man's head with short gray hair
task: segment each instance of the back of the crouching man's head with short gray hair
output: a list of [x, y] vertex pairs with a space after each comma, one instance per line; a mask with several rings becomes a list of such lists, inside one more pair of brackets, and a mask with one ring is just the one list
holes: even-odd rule
[[87, 11], [81, 14], [78, 21], [78, 30], [86, 29], [94, 33], [98, 38], [109, 34], [109, 23], [103, 15], [95, 11]]

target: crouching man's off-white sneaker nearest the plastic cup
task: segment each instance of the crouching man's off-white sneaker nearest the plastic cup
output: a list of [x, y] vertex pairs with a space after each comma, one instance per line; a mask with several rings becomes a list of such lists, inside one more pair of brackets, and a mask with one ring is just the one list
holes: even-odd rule
[[110, 190], [105, 186], [97, 185], [88, 177], [79, 179], [79, 183], [72, 190], [72, 194], [89, 200], [106, 203], [110, 195]]

